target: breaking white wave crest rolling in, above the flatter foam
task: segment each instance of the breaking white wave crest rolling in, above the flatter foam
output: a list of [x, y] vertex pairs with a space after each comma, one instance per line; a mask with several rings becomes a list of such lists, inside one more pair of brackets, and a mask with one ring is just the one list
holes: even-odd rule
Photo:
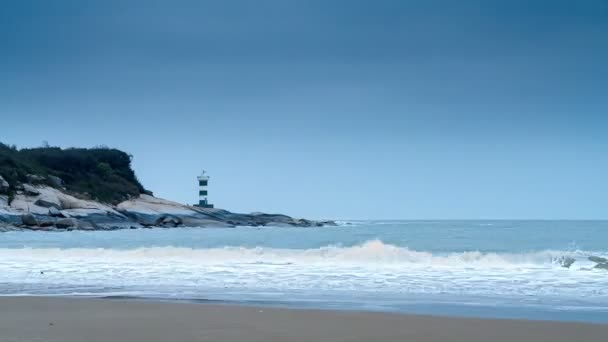
[[363, 244], [342, 247], [325, 246], [314, 249], [280, 249], [267, 247], [223, 247], [192, 249], [183, 247], [146, 247], [136, 249], [104, 248], [21, 248], [0, 249], [0, 265], [9, 260], [23, 261], [99, 261], [109, 263], [178, 262], [183, 264], [268, 264], [268, 265], [335, 265], [373, 267], [426, 268], [521, 268], [562, 267], [565, 258], [574, 259], [574, 266], [590, 267], [590, 255], [602, 252], [545, 250], [530, 253], [431, 253], [411, 250], [370, 240]]

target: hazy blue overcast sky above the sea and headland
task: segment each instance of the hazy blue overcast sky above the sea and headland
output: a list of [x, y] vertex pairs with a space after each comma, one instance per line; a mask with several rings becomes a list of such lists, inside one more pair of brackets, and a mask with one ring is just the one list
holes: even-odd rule
[[606, 1], [14, 1], [0, 141], [313, 218], [608, 218]]

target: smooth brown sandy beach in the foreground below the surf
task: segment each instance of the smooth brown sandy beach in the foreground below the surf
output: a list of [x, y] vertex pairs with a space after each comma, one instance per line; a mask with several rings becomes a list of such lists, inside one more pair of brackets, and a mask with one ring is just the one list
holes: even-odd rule
[[42, 297], [0, 298], [0, 341], [606, 341], [608, 325]]

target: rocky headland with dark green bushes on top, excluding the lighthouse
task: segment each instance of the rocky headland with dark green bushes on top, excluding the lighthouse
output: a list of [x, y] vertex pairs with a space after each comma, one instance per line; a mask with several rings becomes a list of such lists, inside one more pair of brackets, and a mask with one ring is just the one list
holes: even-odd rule
[[126, 153], [105, 147], [17, 150], [0, 144], [0, 232], [335, 225], [157, 198], [139, 184], [130, 163]]

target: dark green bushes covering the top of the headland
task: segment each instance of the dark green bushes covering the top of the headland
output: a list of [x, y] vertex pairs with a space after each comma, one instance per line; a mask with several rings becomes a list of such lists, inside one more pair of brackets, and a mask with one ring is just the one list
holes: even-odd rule
[[78, 197], [105, 203], [146, 192], [131, 169], [131, 156], [108, 147], [17, 149], [0, 143], [0, 175], [11, 185], [9, 195], [20, 183], [58, 187], [48, 176], [61, 178], [65, 189]]

